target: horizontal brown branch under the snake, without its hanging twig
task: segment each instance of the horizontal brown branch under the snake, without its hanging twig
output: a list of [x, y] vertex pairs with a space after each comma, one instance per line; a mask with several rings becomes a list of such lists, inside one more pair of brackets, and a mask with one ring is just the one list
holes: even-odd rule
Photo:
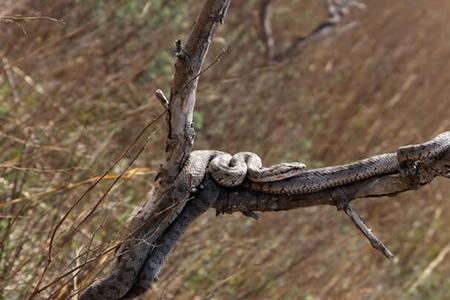
[[298, 195], [274, 195], [263, 192], [255, 192], [250, 189], [251, 184], [246, 182], [241, 187], [221, 189], [221, 194], [215, 203], [215, 208], [220, 213], [233, 213], [244, 211], [280, 211], [291, 210], [299, 207], [316, 205], [337, 206], [337, 200], [344, 192], [349, 201], [361, 198], [374, 198], [394, 196], [409, 190], [417, 190], [430, 183], [436, 176], [447, 177], [450, 165], [450, 151], [442, 160], [421, 166], [420, 183], [411, 185], [400, 171], [372, 177], [363, 181], [333, 187], [323, 191], [298, 194]]

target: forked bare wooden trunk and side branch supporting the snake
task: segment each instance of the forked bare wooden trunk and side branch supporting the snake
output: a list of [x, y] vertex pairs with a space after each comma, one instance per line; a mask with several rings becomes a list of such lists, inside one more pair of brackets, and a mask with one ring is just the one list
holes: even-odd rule
[[[251, 189], [248, 182], [238, 187], [224, 188], [208, 175], [195, 190], [185, 188], [184, 183], [183, 186], [174, 185], [193, 146], [195, 132], [192, 120], [199, 74], [211, 39], [217, 26], [223, 23], [230, 2], [231, 0], [206, 0], [184, 47], [179, 40], [175, 43], [175, 56], [178, 60], [175, 64], [170, 102], [162, 92], [156, 92], [157, 99], [168, 110], [169, 133], [166, 139], [165, 163], [161, 167], [155, 189], [129, 224], [127, 239], [117, 251], [120, 259], [116, 256], [116, 264], [110, 274], [91, 284], [80, 297], [81, 300], [129, 299], [145, 292], [157, 278], [165, 259], [191, 220], [209, 208], [215, 208], [219, 214], [241, 212], [247, 217], [257, 218], [257, 211], [333, 205], [348, 215], [374, 248], [391, 258], [392, 252], [351, 207], [351, 201], [358, 198], [391, 196], [420, 188], [436, 176], [449, 176], [450, 150], [447, 150], [432, 161], [402, 160], [397, 172], [308, 194], [275, 195], [257, 192]], [[270, 2], [263, 1], [267, 7]], [[339, 12], [340, 15], [342, 13], [345, 13], [345, 10]], [[332, 17], [319, 25], [319, 30], [313, 31], [305, 38], [322, 35], [323, 30], [336, 24]], [[285, 57], [305, 38], [296, 39], [290, 47], [278, 53], [278, 56], [270, 57]]]

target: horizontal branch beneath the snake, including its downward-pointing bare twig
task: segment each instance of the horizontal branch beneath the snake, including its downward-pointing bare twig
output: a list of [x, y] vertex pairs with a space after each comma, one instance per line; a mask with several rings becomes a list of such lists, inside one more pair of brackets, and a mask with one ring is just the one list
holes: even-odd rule
[[[424, 145], [424, 144], [422, 144]], [[420, 145], [418, 145], [420, 146]], [[421, 147], [417, 147], [421, 149]], [[422, 148], [423, 151], [423, 148]], [[387, 155], [396, 155], [390, 153]], [[416, 153], [420, 157], [420, 153]], [[401, 166], [402, 164], [400, 164]], [[441, 155], [433, 160], [414, 162], [414, 172], [401, 166], [398, 171], [374, 176], [351, 184], [340, 185], [308, 194], [274, 195], [252, 190], [254, 183], [244, 182], [240, 187], [221, 189], [218, 200], [214, 204], [218, 214], [253, 211], [280, 211], [291, 210], [299, 207], [316, 205], [333, 205], [338, 210], [343, 210], [354, 222], [357, 228], [366, 236], [372, 246], [381, 251], [383, 255], [391, 258], [393, 254], [366, 226], [361, 217], [350, 206], [350, 202], [356, 199], [368, 197], [394, 196], [409, 190], [417, 190], [430, 183], [435, 177], [449, 177], [450, 149], [445, 149]], [[265, 185], [271, 183], [258, 183]]]

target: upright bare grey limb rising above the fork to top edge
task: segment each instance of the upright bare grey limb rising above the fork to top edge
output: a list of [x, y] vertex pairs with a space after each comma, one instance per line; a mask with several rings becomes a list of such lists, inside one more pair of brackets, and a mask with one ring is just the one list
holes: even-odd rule
[[166, 162], [161, 169], [160, 182], [173, 183], [194, 143], [195, 96], [199, 74], [217, 26], [223, 22], [231, 0], [206, 1], [186, 42], [177, 41], [175, 76], [172, 82], [169, 109], [169, 135]]

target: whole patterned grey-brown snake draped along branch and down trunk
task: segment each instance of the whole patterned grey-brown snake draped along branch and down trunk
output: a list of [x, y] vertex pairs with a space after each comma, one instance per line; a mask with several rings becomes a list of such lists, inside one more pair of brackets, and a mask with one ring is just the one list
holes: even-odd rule
[[[205, 176], [209, 174], [214, 181], [225, 187], [238, 186], [247, 181], [248, 187], [254, 191], [285, 195], [307, 194], [374, 176], [392, 174], [398, 172], [408, 162], [438, 159], [449, 148], [450, 132], [444, 132], [429, 142], [400, 147], [396, 153], [376, 155], [350, 164], [312, 170], [307, 170], [304, 164], [298, 162], [263, 167], [259, 156], [251, 152], [240, 152], [232, 156], [221, 151], [197, 150], [191, 152], [174, 185], [180, 185], [195, 194]], [[128, 268], [120, 270], [120, 274], [113, 274], [116, 278], [110, 276], [94, 285], [95, 289], [88, 288], [81, 299], [126, 299], [145, 291], [158, 275], [184, 230], [210, 206], [205, 204], [207, 200], [196, 197], [192, 201], [187, 199], [180, 201], [186, 203], [184, 209], [180, 210], [156, 247], [144, 254], [140, 253], [143, 250], [139, 247], [130, 249], [132, 252], [130, 257], [136, 260], [131, 259]], [[142, 259], [143, 255], [146, 257], [145, 260]], [[132, 293], [126, 296], [117, 293], [119, 290], [132, 288], [120, 286], [122, 284], [120, 278], [135, 277], [136, 266], [140, 269], [140, 274], [138, 279], [135, 279]], [[103, 287], [98, 288], [99, 285]]]

